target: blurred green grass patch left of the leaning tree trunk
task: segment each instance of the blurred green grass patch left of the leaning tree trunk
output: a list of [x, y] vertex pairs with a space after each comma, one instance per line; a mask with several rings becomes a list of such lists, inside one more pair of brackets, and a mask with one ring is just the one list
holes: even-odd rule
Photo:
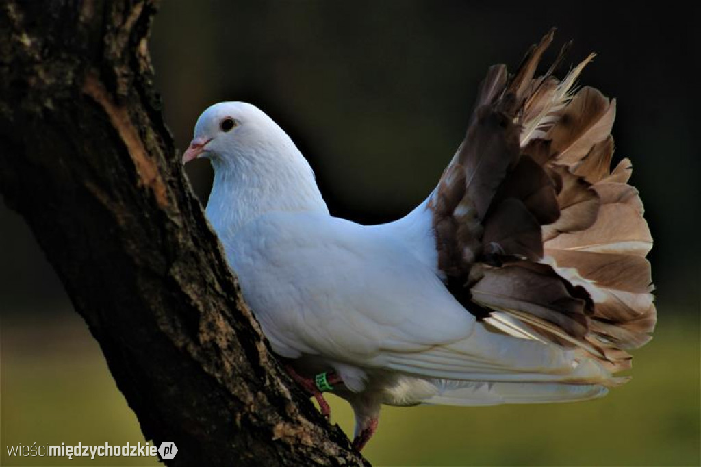
[[[76, 313], [4, 318], [0, 340], [2, 466], [155, 466], [151, 457], [9, 457], [12, 445], [130, 445], [146, 440]], [[153, 444], [151, 442], [151, 444]]]

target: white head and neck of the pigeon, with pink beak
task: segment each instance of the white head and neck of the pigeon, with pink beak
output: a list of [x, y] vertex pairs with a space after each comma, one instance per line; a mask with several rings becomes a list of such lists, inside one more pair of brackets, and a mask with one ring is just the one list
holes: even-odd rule
[[328, 212], [311, 166], [287, 133], [245, 102], [206, 109], [182, 162], [205, 157], [215, 171], [207, 215], [236, 229], [270, 211]]

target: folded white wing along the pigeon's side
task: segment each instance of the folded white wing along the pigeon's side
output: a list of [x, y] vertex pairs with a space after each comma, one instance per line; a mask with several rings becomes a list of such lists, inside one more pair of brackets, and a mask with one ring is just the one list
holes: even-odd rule
[[[273, 212], [224, 245], [282, 356], [447, 379], [559, 381], [572, 371], [571, 352], [487, 332], [430, 267], [380, 229]], [[578, 377], [599, 378], [600, 368], [580, 366]]]

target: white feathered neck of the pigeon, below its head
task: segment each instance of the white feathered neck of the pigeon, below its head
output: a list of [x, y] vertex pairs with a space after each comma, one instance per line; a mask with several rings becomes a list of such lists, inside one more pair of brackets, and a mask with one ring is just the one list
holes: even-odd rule
[[234, 234], [267, 212], [328, 214], [311, 167], [297, 147], [290, 145], [285, 151], [260, 147], [246, 154], [212, 158], [215, 178], [207, 217], [219, 236]]

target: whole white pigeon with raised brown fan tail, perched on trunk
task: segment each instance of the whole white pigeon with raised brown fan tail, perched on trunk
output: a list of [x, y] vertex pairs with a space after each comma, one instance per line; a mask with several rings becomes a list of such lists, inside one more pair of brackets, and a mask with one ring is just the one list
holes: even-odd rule
[[395, 222], [333, 217], [285, 131], [244, 102], [200, 115], [182, 161], [208, 158], [206, 215], [273, 352], [320, 403], [484, 406], [605, 395], [656, 320], [652, 237], [631, 163], [611, 170], [615, 100], [491, 67], [437, 187]]

